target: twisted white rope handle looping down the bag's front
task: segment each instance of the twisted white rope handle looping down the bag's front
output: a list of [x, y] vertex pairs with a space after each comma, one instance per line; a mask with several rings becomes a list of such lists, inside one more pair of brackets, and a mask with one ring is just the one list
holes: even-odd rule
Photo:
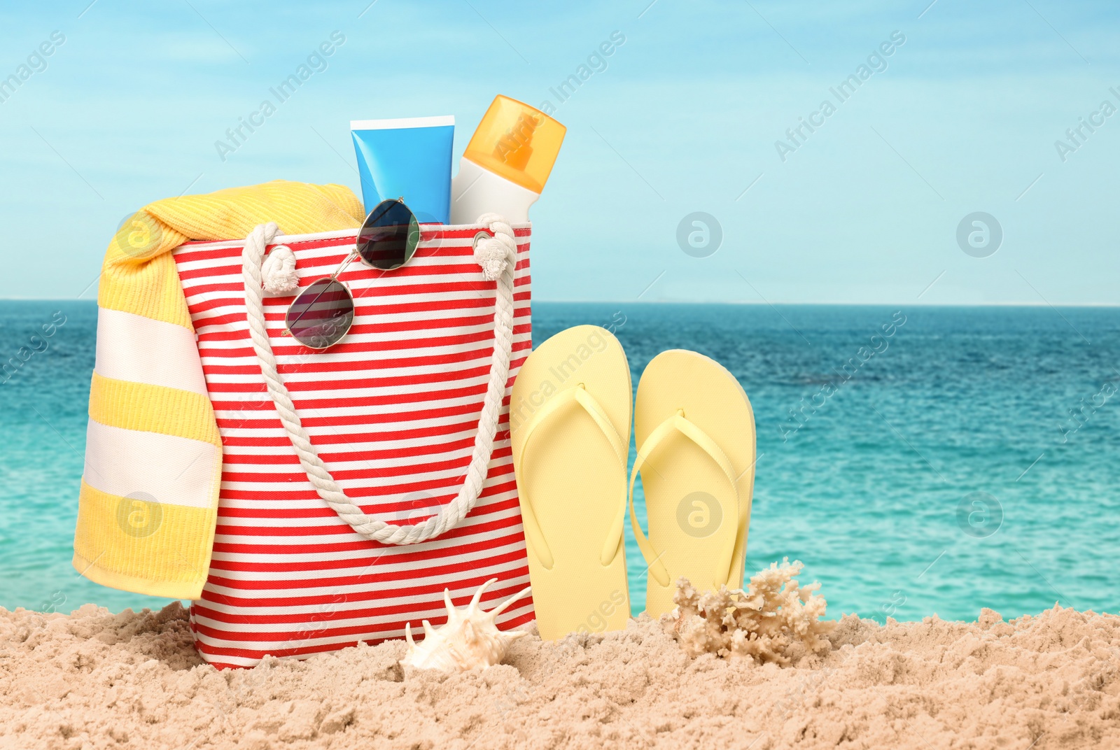
[[467, 468], [458, 495], [438, 514], [414, 526], [385, 523], [362, 513], [362, 509], [346, 497], [343, 488], [334, 480], [323, 459], [319, 458], [299, 420], [299, 414], [296, 413], [291, 394], [277, 373], [276, 356], [272, 354], [272, 345], [269, 343], [268, 329], [264, 326], [264, 310], [261, 306], [263, 297], [261, 263], [264, 260], [265, 246], [281, 233], [276, 223], [269, 223], [258, 225], [245, 237], [242, 275], [245, 281], [249, 332], [269, 395], [272, 396], [280, 421], [291, 439], [292, 448], [296, 449], [299, 463], [319, 497], [326, 500], [327, 505], [355, 532], [367, 540], [383, 544], [417, 544], [435, 538], [463, 521], [478, 501], [478, 494], [486, 480], [494, 434], [497, 432], [497, 421], [502, 412], [502, 399], [505, 396], [505, 383], [510, 376], [510, 350], [513, 344], [513, 275], [517, 260], [517, 243], [513, 237], [513, 228], [497, 214], [484, 214], [478, 218], [478, 223], [485, 225], [494, 236], [478, 238], [475, 243], [475, 261], [483, 268], [483, 275], [487, 281], [497, 281], [497, 296], [494, 300], [494, 353], [489, 382], [486, 385], [482, 416], [478, 419], [478, 433], [475, 435], [470, 466]]

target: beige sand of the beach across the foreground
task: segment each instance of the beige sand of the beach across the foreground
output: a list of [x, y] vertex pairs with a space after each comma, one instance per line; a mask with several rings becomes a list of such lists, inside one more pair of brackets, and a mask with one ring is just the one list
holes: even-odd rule
[[791, 666], [688, 657], [647, 617], [402, 668], [403, 641], [216, 671], [187, 611], [0, 610], [4, 748], [1116, 748], [1120, 617], [840, 619]]

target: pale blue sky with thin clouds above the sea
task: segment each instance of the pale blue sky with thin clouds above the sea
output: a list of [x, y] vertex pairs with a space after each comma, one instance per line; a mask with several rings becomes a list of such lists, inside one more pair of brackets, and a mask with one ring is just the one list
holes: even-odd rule
[[[77, 0], [0, 20], [0, 77], [65, 37], [0, 103], [0, 297], [93, 299], [113, 231], [157, 198], [274, 178], [357, 191], [352, 119], [454, 114], [458, 163], [495, 94], [557, 104], [588, 65], [532, 213], [536, 299], [1120, 303], [1120, 114], [1064, 161], [1055, 147], [1120, 107], [1111, 3]], [[333, 31], [325, 69], [223, 161], [215, 141]], [[678, 241], [697, 212], [715, 253]], [[987, 257], [958, 243], [976, 212], [1002, 229]]]

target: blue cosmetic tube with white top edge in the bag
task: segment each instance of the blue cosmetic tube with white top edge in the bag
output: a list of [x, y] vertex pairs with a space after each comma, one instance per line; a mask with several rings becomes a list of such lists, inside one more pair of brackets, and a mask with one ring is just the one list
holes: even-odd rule
[[454, 115], [355, 120], [351, 135], [366, 214], [382, 200], [404, 198], [421, 224], [450, 221]]

